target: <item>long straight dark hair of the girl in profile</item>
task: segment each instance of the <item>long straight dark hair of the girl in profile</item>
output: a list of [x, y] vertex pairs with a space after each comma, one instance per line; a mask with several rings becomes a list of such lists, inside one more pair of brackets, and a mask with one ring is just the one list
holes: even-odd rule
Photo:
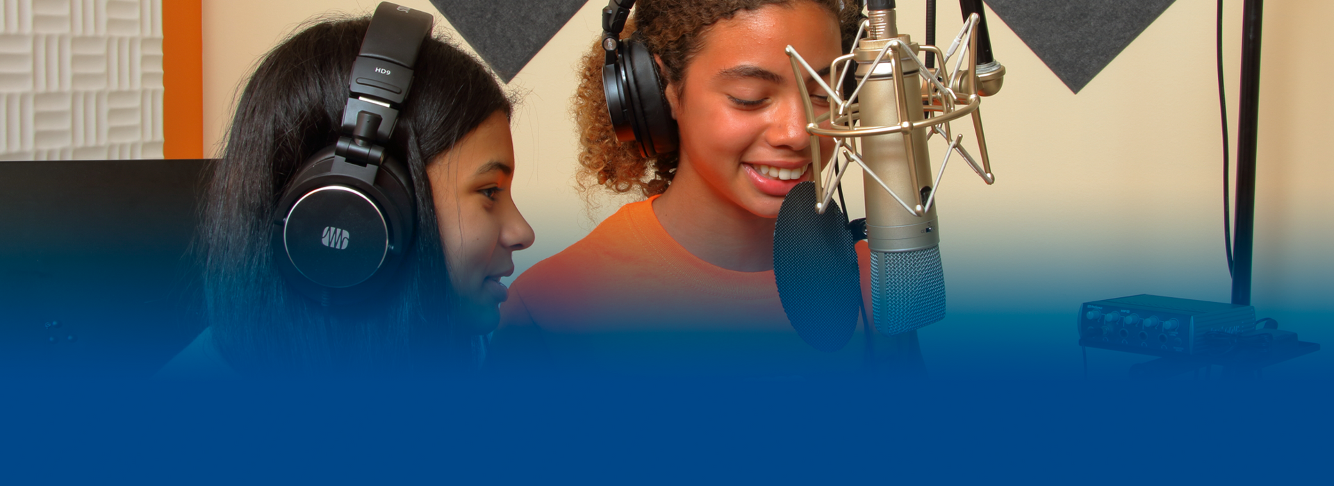
[[276, 198], [297, 168], [338, 141], [348, 73], [368, 17], [315, 21], [264, 56], [241, 92], [201, 208], [203, 317], [243, 374], [467, 369], [475, 336], [450, 316], [452, 292], [426, 165], [512, 103], [475, 59], [428, 39], [387, 149], [416, 188], [414, 245], [383, 296], [359, 305], [307, 300], [273, 266]]

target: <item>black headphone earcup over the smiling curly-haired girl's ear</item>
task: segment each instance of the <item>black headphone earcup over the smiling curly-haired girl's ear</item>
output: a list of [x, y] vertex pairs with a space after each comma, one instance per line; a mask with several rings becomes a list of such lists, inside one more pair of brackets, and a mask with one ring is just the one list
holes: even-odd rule
[[624, 83], [619, 92], [628, 101], [630, 125], [635, 140], [639, 141], [639, 153], [644, 157], [656, 157], [675, 152], [676, 120], [672, 119], [671, 107], [663, 96], [664, 84], [648, 47], [635, 39], [622, 41], [616, 71], [624, 73], [618, 80]]

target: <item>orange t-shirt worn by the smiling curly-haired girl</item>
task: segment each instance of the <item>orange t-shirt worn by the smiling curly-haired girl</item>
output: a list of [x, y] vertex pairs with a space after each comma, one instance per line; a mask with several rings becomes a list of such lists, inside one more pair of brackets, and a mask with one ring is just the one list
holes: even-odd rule
[[860, 326], [839, 352], [811, 348], [788, 324], [772, 270], [699, 260], [667, 234], [652, 200], [622, 206], [515, 280], [492, 340], [494, 367], [806, 375], [867, 365]]

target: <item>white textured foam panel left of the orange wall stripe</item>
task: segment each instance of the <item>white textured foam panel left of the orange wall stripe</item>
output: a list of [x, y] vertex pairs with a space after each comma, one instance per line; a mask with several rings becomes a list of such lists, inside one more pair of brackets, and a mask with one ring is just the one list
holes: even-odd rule
[[161, 0], [0, 1], [0, 160], [161, 158]]

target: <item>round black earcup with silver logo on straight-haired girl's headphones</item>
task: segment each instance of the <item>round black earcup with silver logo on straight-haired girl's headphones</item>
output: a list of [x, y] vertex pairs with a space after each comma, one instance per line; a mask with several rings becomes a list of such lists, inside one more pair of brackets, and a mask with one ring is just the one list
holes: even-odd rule
[[416, 210], [403, 164], [312, 156], [275, 206], [273, 264], [297, 292], [348, 302], [374, 294], [411, 246]]

